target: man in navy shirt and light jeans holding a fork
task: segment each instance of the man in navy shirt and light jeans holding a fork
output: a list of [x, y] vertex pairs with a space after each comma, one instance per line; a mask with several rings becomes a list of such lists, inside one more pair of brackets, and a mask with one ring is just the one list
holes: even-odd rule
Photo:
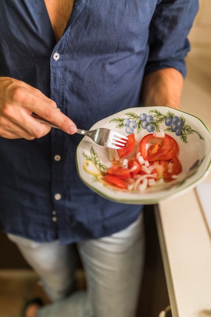
[[[143, 206], [80, 182], [74, 133], [128, 107], [178, 108], [197, 10], [196, 0], [1, 1], [1, 226], [53, 302], [26, 317], [135, 316]], [[73, 243], [87, 293], [73, 292]]]

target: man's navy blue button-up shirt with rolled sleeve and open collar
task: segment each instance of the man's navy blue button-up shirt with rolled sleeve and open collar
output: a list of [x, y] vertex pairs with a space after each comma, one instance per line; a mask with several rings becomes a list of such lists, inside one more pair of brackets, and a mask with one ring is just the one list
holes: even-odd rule
[[[56, 43], [44, 0], [1, 0], [0, 75], [38, 88], [78, 127], [139, 106], [145, 73], [184, 76], [197, 0], [77, 0]], [[62, 244], [109, 235], [142, 206], [103, 199], [76, 172], [81, 136], [0, 138], [0, 221], [5, 232]]]

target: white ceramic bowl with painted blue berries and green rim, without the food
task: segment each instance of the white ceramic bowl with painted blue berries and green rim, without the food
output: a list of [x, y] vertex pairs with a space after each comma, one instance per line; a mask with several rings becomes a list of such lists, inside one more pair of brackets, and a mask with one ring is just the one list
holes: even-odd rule
[[164, 130], [179, 144], [182, 173], [175, 180], [143, 192], [115, 188], [103, 181], [113, 164], [108, 149], [83, 137], [76, 150], [80, 179], [104, 198], [125, 204], [156, 204], [194, 188], [208, 174], [211, 163], [211, 134], [203, 122], [188, 113], [168, 107], [137, 107], [122, 110], [96, 123], [91, 130], [108, 128], [123, 135], [135, 134], [137, 144], [146, 134]]

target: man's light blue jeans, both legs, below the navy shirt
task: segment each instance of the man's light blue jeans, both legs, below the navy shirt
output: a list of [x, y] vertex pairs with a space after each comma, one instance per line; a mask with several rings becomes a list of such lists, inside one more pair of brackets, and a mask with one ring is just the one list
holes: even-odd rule
[[67, 295], [74, 285], [71, 245], [36, 243], [9, 234], [38, 274], [52, 300], [37, 317], [135, 317], [145, 254], [143, 213], [129, 227], [97, 240], [77, 243], [87, 291]]

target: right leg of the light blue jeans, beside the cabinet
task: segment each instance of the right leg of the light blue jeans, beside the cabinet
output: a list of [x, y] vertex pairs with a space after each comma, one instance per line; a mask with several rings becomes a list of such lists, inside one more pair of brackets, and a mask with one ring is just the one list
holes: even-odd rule
[[135, 317], [142, 281], [143, 214], [111, 236], [78, 244], [94, 317]]

